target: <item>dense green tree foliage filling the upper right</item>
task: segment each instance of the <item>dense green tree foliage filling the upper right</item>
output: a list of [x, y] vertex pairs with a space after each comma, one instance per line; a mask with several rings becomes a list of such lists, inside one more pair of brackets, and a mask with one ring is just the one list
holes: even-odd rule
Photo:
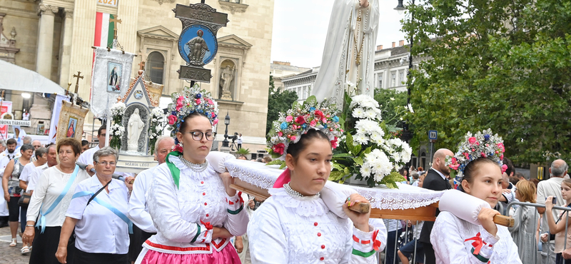
[[505, 156], [543, 163], [571, 158], [571, 2], [417, 1], [403, 20], [414, 36], [413, 142], [454, 149], [467, 131], [492, 128]]

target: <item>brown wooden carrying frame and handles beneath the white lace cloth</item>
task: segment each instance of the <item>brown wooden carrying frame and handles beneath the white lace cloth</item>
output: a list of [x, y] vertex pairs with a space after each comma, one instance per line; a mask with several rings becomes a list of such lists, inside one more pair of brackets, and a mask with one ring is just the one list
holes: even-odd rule
[[[236, 191], [241, 191], [243, 193], [248, 193], [251, 196], [256, 196], [259, 198], [267, 199], [270, 197], [268, 190], [254, 186], [251, 183], [246, 183], [239, 178], [234, 178], [234, 184], [231, 188]], [[432, 203], [427, 206], [414, 208], [414, 209], [379, 209], [373, 208], [370, 210], [370, 205], [366, 203], [355, 203], [349, 207], [358, 213], [368, 213], [370, 210], [371, 218], [383, 218], [383, 219], [398, 219], [398, 220], [411, 220], [411, 221], [435, 221], [436, 220], [436, 209], [438, 208], [438, 202]], [[514, 225], [514, 219], [505, 215], [495, 215], [494, 223], [498, 225], [504, 225], [507, 227], [512, 227]]]

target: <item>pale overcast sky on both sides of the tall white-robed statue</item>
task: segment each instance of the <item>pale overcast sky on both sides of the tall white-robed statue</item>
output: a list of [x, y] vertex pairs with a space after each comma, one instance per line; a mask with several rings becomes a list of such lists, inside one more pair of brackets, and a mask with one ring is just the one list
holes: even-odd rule
[[[271, 60], [307, 68], [319, 66], [333, 1], [275, 0]], [[379, 0], [377, 45], [387, 48], [393, 41], [398, 45], [399, 40], [405, 39], [400, 31], [400, 19], [405, 15], [393, 10], [397, 4], [397, 0]]]

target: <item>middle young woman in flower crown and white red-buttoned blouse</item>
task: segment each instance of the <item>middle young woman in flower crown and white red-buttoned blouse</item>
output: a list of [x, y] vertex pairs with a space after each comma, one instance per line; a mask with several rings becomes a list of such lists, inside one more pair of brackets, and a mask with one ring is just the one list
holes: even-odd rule
[[268, 144], [288, 168], [248, 224], [253, 264], [372, 264], [377, 263], [375, 252], [385, 248], [384, 226], [375, 230], [368, 224], [370, 213], [348, 210], [350, 203], [369, 203], [363, 196], [354, 193], [343, 203], [349, 219], [335, 215], [320, 198], [331, 171], [331, 148], [340, 136], [338, 118], [327, 111], [288, 111], [282, 123], [275, 123], [276, 135]]

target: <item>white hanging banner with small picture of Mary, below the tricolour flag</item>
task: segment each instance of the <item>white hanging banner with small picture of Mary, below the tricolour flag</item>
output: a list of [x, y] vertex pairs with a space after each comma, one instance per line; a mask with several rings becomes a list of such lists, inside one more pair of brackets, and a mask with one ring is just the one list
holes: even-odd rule
[[125, 96], [131, 79], [133, 56], [116, 49], [96, 47], [91, 77], [91, 111], [97, 117], [106, 116], [108, 108]]

